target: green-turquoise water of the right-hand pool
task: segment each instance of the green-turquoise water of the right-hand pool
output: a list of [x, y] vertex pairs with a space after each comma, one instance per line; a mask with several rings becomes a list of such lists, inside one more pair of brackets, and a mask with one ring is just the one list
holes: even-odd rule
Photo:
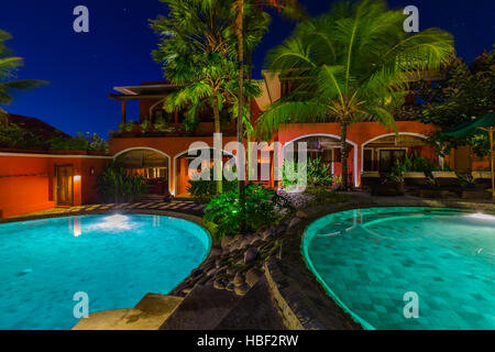
[[364, 328], [495, 329], [495, 216], [342, 211], [312, 222], [301, 251], [327, 293]]

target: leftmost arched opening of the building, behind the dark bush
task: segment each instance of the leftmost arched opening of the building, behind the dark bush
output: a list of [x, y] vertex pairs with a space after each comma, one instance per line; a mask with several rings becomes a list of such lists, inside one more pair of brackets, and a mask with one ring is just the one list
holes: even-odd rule
[[167, 195], [169, 189], [170, 158], [163, 152], [135, 147], [114, 156], [117, 164], [146, 178], [152, 195]]

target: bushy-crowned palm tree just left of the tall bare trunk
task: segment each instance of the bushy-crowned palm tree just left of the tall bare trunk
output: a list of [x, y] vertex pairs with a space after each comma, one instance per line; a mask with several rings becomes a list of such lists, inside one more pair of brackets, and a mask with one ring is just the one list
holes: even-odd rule
[[[153, 53], [163, 63], [165, 76], [180, 88], [165, 99], [165, 110], [187, 109], [187, 120], [196, 120], [205, 106], [213, 111], [215, 133], [220, 133], [220, 112], [234, 96], [232, 78], [235, 61], [229, 55], [228, 31], [230, 7], [228, 0], [162, 0], [168, 15], [152, 22], [162, 42]], [[222, 151], [215, 150], [217, 161]], [[222, 175], [221, 163], [216, 163]], [[222, 180], [217, 180], [222, 193]]]

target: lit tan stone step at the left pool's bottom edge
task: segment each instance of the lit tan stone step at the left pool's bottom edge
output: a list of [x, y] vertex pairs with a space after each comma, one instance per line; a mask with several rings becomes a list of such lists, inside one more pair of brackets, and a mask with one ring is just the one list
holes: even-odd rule
[[130, 309], [111, 309], [90, 314], [73, 330], [158, 330], [184, 298], [147, 294]]

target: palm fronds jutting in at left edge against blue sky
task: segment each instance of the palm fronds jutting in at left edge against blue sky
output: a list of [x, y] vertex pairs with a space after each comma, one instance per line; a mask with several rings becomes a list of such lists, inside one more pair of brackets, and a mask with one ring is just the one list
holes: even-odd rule
[[[23, 59], [12, 56], [4, 45], [4, 42], [11, 37], [9, 33], [0, 30], [0, 105], [12, 102], [15, 90], [36, 88], [43, 84], [34, 79], [12, 79], [15, 77], [15, 72], [23, 65]], [[9, 114], [0, 108], [0, 124], [7, 123], [9, 123]]]

